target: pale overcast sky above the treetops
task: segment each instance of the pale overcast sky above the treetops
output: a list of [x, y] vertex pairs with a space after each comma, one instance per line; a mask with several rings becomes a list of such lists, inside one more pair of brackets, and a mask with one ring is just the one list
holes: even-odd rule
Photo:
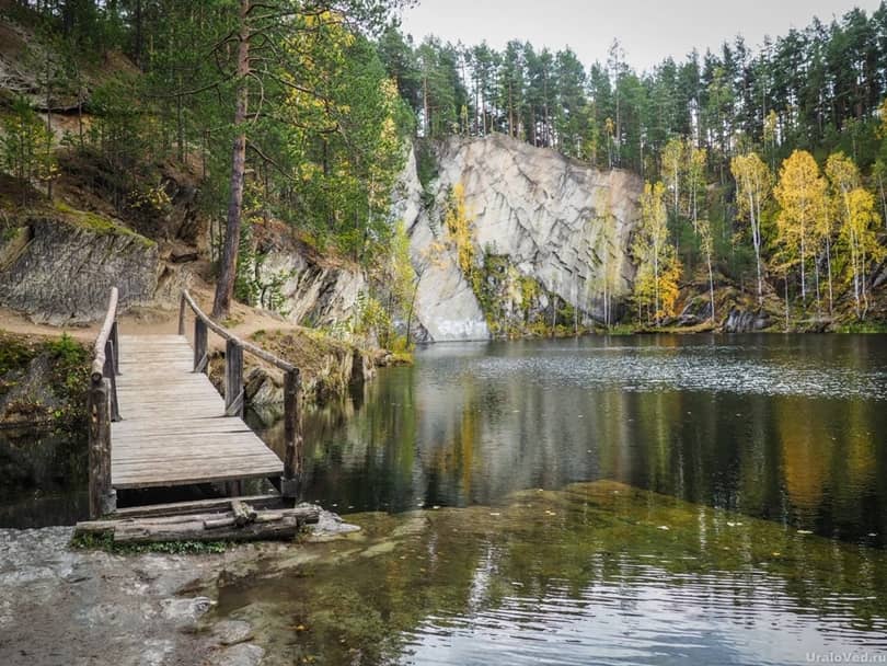
[[557, 50], [568, 45], [586, 65], [607, 59], [614, 37], [629, 61], [649, 69], [667, 56], [677, 60], [695, 46], [716, 49], [741, 33], [757, 48], [764, 35], [823, 22], [853, 7], [867, 12], [880, 0], [421, 0], [403, 13], [403, 28], [421, 42], [435, 34], [445, 42], [487, 43], [500, 49], [509, 39]]

